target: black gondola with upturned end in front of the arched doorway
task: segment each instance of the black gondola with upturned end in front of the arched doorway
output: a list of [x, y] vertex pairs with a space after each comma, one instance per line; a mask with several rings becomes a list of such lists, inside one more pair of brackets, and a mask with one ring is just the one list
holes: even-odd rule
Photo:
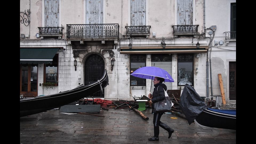
[[89, 85], [84, 86], [82, 84], [74, 89], [57, 94], [20, 99], [20, 117], [41, 113], [67, 105], [71, 102], [77, 101], [78, 99], [84, 98], [87, 95], [102, 91], [108, 85], [108, 82], [109, 78], [107, 71], [105, 70], [100, 80]]

